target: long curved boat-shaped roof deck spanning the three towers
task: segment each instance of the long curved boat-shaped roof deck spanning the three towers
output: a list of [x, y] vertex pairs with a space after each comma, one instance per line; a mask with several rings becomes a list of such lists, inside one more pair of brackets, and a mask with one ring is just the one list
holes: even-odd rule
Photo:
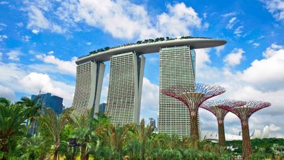
[[76, 64], [82, 64], [91, 60], [105, 62], [109, 61], [112, 55], [118, 55], [122, 53], [129, 53], [135, 51], [138, 54], [157, 53], [160, 48], [172, 47], [172, 46], [191, 46], [193, 49], [203, 49], [214, 46], [222, 46], [226, 44], [226, 40], [208, 39], [208, 38], [190, 38], [190, 39], [177, 39], [167, 40], [160, 42], [133, 44], [130, 46], [121, 46], [115, 49], [109, 49], [101, 53], [88, 55], [76, 60]]

